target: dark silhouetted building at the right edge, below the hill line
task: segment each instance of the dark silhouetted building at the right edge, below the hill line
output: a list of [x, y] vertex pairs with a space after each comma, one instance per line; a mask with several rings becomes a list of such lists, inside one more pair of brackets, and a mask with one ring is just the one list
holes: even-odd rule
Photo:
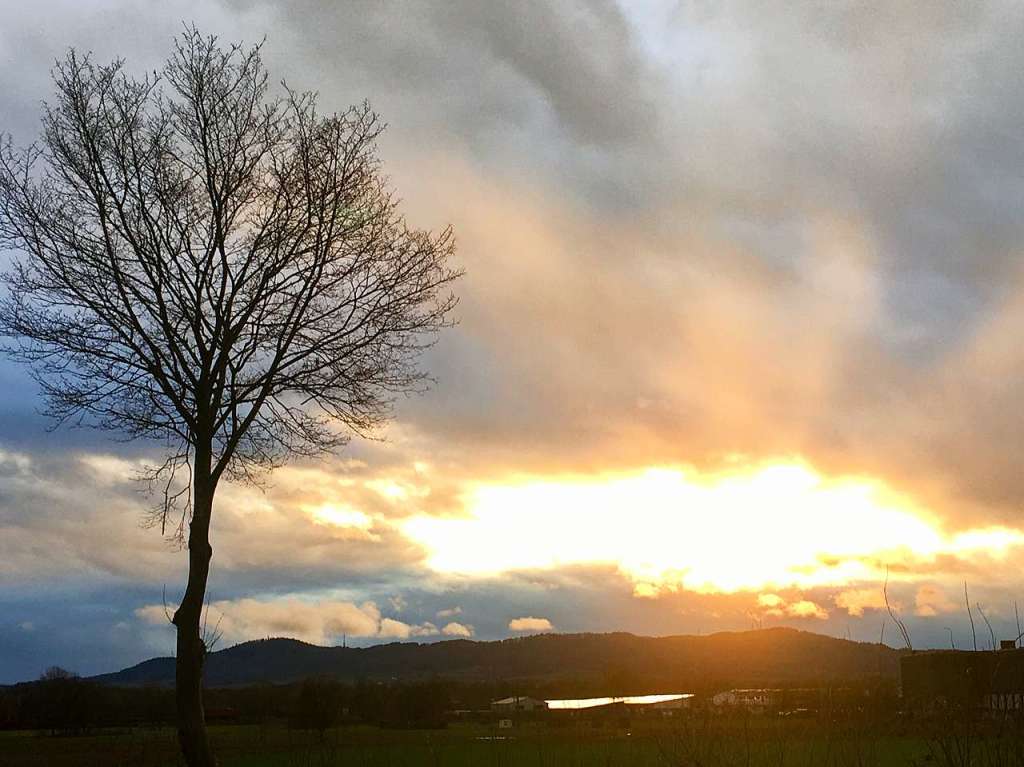
[[912, 652], [900, 658], [900, 688], [910, 710], [1024, 713], [1024, 649]]

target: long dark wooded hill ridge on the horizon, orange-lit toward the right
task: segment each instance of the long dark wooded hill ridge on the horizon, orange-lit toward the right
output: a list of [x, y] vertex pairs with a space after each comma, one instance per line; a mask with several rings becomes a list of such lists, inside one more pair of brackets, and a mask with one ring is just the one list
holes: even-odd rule
[[[372, 647], [263, 639], [211, 652], [206, 684], [285, 684], [308, 677], [350, 682], [447, 678], [561, 681], [601, 688], [603, 694], [635, 694], [895, 680], [901, 654], [882, 644], [785, 628], [670, 637], [542, 634], [490, 642], [454, 639]], [[174, 658], [153, 658], [93, 679], [117, 686], [171, 686]]]

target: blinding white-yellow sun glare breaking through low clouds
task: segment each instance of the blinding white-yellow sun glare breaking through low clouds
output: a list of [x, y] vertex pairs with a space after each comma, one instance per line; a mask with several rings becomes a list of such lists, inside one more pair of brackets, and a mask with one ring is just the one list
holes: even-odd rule
[[478, 484], [464, 501], [465, 516], [417, 516], [403, 525], [435, 570], [609, 564], [638, 594], [843, 585], [878, 578], [887, 564], [998, 557], [1024, 542], [1001, 527], [948, 535], [881, 482], [828, 479], [801, 463]]

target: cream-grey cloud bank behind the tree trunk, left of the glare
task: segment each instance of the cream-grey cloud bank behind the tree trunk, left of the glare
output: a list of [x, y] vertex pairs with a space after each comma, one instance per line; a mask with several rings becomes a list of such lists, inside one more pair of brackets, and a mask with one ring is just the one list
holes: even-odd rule
[[[74, 566], [96, 582], [175, 583], [185, 561], [162, 540], [159, 528], [143, 528], [155, 500], [133, 481], [155, 455], [46, 454], [0, 445], [0, 578], [29, 588], [63, 579]], [[285, 467], [266, 487], [222, 484], [213, 522], [214, 562], [221, 579], [217, 586], [226, 588], [227, 579], [247, 581], [242, 590], [250, 593], [287, 591], [325, 581], [357, 581], [374, 572], [415, 571], [422, 551], [389, 521], [402, 511], [368, 487], [382, 475], [393, 481], [419, 476], [411, 463], [371, 469], [346, 458], [327, 459], [316, 467]], [[432, 489], [442, 496], [445, 485], [437, 482]], [[367, 526], [352, 527], [349, 518], [332, 523], [308, 513], [310, 507], [324, 508], [329, 499], [337, 507], [357, 510]]]

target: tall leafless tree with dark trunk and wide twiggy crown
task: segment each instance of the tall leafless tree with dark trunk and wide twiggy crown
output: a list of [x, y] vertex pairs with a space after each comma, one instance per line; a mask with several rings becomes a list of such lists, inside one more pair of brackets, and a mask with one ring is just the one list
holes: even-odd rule
[[454, 239], [406, 224], [368, 105], [322, 116], [313, 94], [272, 95], [259, 45], [188, 29], [142, 79], [75, 51], [52, 74], [40, 142], [0, 146], [0, 245], [20, 253], [0, 332], [57, 423], [166, 449], [148, 479], [155, 520], [188, 549], [178, 733], [185, 761], [210, 765], [218, 483], [336, 449], [425, 384], [417, 357], [456, 303]]

